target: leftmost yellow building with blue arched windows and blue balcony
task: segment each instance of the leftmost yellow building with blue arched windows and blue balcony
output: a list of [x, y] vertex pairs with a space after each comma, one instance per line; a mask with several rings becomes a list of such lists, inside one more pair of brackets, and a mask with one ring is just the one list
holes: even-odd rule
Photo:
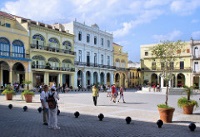
[[13, 15], [0, 11], [0, 84], [31, 80], [29, 35]]

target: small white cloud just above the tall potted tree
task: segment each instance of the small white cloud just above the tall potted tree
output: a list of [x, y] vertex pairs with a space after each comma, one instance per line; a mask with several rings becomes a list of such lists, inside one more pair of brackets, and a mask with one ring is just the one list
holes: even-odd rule
[[181, 35], [182, 35], [181, 31], [175, 30], [166, 35], [153, 35], [153, 39], [155, 40], [155, 42], [166, 41], [166, 40], [174, 41], [179, 39]]

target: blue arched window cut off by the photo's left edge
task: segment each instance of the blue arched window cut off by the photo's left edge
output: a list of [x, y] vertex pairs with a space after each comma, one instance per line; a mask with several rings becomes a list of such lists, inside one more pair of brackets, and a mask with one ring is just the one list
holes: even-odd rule
[[10, 42], [7, 38], [0, 37], [0, 56], [9, 56]]

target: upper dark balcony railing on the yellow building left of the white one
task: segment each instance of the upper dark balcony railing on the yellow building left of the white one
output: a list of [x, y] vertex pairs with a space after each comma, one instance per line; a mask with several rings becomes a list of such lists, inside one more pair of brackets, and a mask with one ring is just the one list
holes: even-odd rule
[[76, 55], [76, 52], [70, 51], [67, 49], [60, 49], [56, 47], [42, 46], [42, 45], [36, 45], [36, 44], [30, 44], [30, 46], [31, 46], [31, 49], [40, 49], [40, 50], [45, 50], [49, 52], [59, 52], [59, 53], [64, 53], [64, 54]]

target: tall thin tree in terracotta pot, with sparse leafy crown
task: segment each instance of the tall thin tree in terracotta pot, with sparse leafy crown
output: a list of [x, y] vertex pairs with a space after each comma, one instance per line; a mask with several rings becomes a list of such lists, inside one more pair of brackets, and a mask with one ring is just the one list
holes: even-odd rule
[[[174, 108], [168, 106], [168, 95], [170, 88], [170, 81], [173, 78], [173, 70], [176, 65], [176, 60], [179, 58], [182, 47], [184, 43], [181, 41], [170, 42], [165, 41], [160, 44], [157, 44], [153, 47], [150, 47], [150, 51], [152, 52], [153, 61], [156, 64], [160, 64], [161, 77], [164, 82], [166, 82], [166, 99], [164, 104], [158, 104], [158, 111], [160, 114], [160, 119], [165, 123], [171, 123], [173, 118]], [[174, 63], [175, 62], [175, 63]], [[177, 63], [178, 64], [178, 63]], [[158, 68], [159, 68], [158, 67]], [[162, 90], [162, 89], [161, 89]]]

